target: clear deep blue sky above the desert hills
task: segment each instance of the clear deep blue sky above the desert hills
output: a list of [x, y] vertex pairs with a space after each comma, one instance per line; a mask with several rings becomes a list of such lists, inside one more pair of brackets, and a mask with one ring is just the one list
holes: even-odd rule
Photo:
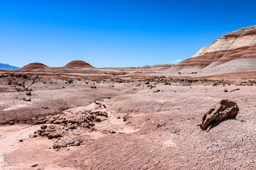
[[0, 62], [175, 63], [225, 33], [256, 25], [255, 6], [255, 0], [0, 0]]

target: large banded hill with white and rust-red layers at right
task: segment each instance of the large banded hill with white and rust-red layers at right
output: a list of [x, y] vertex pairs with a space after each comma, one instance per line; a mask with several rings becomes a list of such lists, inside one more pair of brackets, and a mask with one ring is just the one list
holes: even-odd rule
[[171, 74], [226, 74], [256, 69], [256, 26], [227, 33], [196, 55], [171, 67]]

